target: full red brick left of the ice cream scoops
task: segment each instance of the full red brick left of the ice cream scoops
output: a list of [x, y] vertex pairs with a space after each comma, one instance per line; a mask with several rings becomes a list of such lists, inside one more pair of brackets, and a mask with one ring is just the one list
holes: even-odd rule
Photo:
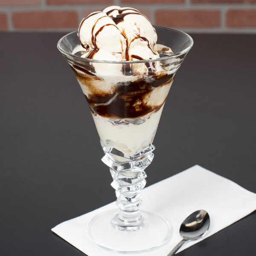
[[77, 28], [75, 11], [31, 11], [15, 12], [13, 25], [16, 29]]

